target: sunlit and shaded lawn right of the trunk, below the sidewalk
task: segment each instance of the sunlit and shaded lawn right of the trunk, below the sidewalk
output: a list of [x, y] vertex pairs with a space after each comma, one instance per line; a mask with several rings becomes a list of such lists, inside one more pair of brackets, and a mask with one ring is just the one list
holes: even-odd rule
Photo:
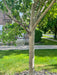
[[57, 68], [53, 66], [57, 64], [57, 50], [38, 50], [38, 53], [36, 50], [35, 54], [35, 69], [37, 71], [46, 69], [50, 72], [57, 72]]

